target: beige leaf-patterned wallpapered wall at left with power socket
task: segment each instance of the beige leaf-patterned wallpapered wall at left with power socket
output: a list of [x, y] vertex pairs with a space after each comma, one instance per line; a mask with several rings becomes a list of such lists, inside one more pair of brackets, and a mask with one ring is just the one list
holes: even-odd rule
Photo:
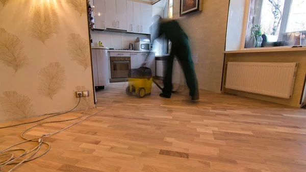
[[[0, 121], [93, 101], [85, 0], [0, 0]], [[82, 98], [78, 109], [86, 108]]]

